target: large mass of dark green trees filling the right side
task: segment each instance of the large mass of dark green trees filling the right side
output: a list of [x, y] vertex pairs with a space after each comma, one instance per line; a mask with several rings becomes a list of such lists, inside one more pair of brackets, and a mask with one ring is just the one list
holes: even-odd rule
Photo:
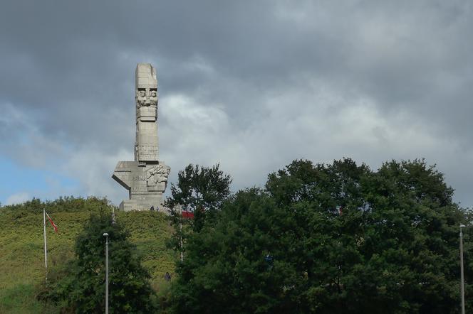
[[[293, 161], [188, 234], [173, 310], [459, 313], [458, 226], [468, 213], [452, 194], [425, 161], [378, 171]], [[473, 310], [468, 280], [466, 291]]]

